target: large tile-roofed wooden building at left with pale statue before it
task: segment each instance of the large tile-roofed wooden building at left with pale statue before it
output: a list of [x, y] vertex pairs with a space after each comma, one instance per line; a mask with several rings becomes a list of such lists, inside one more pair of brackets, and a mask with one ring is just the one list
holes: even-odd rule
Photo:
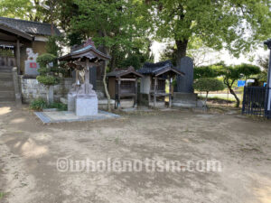
[[18, 68], [19, 74], [36, 73], [36, 58], [45, 51], [51, 33], [61, 32], [50, 23], [0, 17], [0, 71]]

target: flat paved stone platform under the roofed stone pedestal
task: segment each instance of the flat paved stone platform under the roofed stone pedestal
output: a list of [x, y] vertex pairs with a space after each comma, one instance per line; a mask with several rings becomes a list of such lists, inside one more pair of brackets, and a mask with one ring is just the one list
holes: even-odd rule
[[79, 116], [70, 111], [53, 111], [53, 112], [34, 112], [43, 124], [81, 122], [81, 121], [97, 121], [105, 119], [120, 118], [119, 115], [108, 113], [106, 111], [98, 111], [98, 115]]

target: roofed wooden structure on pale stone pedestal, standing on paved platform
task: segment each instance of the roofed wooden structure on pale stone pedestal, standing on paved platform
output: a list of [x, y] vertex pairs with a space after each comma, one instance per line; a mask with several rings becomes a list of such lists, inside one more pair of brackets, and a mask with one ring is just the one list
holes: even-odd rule
[[76, 70], [76, 82], [68, 94], [68, 110], [75, 111], [76, 115], [97, 115], [98, 97], [93, 85], [89, 83], [89, 70], [99, 62], [110, 60], [110, 57], [98, 51], [89, 39], [83, 48], [71, 51], [59, 60], [67, 61], [67, 65]]

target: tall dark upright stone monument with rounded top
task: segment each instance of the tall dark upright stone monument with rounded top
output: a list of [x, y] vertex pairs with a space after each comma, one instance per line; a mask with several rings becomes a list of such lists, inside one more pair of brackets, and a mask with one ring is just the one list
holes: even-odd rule
[[181, 66], [177, 67], [185, 76], [177, 76], [177, 92], [193, 93], [193, 79], [194, 69], [193, 60], [190, 57], [183, 57], [181, 59]]

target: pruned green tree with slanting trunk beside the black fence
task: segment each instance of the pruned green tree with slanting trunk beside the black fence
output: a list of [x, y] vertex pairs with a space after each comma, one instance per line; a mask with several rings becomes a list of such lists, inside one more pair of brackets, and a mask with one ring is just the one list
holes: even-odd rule
[[237, 104], [236, 106], [240, 106], [240, 99], [236, 95], [233, 90], [233, 84], [239, 78], [248, 78], [251, 75], [256, 75], [260, 73], [260, 69], [257, 66], [249, 65], [249, 64], [241, 64], [238, 66], [226, 66], [224, 63], [220, 63], [220, 75], [223, 77], [224, 84], [229, 88], [230, 94], [232, 94]]

